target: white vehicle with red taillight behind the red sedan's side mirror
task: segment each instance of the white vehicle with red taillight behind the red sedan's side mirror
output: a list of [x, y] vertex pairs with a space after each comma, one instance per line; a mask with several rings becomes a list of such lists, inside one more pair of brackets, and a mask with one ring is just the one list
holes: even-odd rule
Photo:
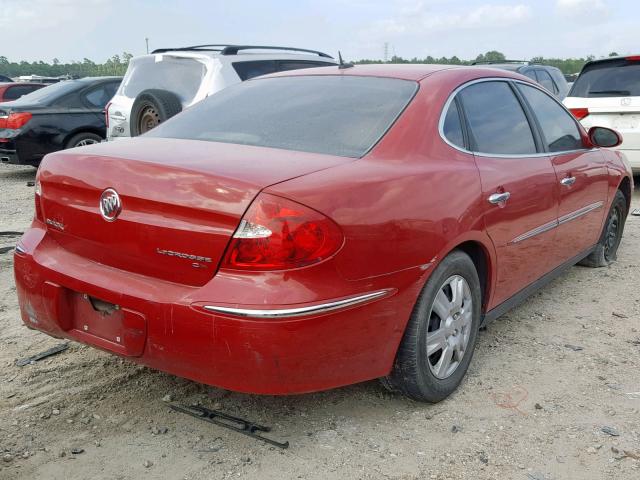
[[564, 104], [589, 129], [609, 127], [622, 134], [622, 150], [640, 174], [640, 55], [587, 62]]

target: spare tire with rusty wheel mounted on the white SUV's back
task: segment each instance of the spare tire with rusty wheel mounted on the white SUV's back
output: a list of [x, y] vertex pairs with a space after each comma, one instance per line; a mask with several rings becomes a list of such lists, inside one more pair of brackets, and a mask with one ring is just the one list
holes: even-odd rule
[[131, 136], [142, 135], [181, 111], [182, 103], [176, 94], [167, 90], [144, 90], [131, 108]]

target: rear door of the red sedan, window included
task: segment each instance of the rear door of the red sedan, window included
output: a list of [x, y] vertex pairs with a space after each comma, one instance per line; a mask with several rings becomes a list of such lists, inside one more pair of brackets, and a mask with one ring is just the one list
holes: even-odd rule
[[493, 308], [551, 270], [558, 184], [512, 82], [475, 82], [458, 96], [496, 249]]

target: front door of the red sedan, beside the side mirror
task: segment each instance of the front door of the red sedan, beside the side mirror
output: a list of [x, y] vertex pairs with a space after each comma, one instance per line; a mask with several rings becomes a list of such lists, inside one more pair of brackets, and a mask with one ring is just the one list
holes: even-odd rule
[[517, 84], [539, 125], [556, 172], [560, 197], [554, 263], [560, 265], [597, 243], [604, 221], [608, 172], [602, 152], [585, 147], [575, 118], [533, 85]]

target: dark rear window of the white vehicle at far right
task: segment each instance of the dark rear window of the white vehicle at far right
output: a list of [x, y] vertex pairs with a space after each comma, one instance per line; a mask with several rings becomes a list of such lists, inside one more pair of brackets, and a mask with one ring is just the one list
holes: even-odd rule
[[640, 62], [625, 59], [587, 65], [569, 93], [570, 97], [640, 96]]

